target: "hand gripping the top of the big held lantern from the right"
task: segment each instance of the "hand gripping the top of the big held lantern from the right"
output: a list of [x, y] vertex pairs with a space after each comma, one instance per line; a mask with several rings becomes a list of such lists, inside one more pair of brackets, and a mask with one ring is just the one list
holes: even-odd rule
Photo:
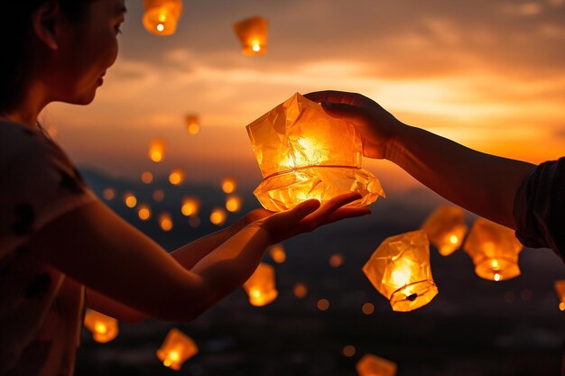
[[386, 158], [387, 145], [404, 125], [375, 101], [357, 93], [328, 90], [305, 96], [321, 103], [328, 115], [353, 124], [363, 139], [363, 155], [369, 158]]

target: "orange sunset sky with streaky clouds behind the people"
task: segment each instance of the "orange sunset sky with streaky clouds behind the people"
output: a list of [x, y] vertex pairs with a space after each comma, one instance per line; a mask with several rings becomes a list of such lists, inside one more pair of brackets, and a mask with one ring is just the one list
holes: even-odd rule
[[[174, 35], [144, 30], [126, 1], [120, 57], [93, 104], [43, 122], [82, 167], [116, 177], [172, 168], [188, 180], [261, 179], [245, 125], [295, 92], [369, 96], [403, 122], [480, 151], [541, 162], [565, 151], [565, 4], [477, 0], [184, 0]], [[233, 23], [262, 15], [269, 51], [240, 53]], [[201, 117], [190, 135], [183, 118]], [[159, 165], [149, 142], [168, 144]], [[365, 160], [388, 186], [413, 180]]]

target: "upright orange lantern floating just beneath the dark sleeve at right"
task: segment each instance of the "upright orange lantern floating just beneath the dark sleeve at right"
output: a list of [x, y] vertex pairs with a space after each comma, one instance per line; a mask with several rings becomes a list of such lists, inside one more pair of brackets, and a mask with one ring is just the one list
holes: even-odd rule
[[477, 276], [496, 281], [520, 275], [518, 253], [522, 248], [512, 229], [485, 218], [477, 218], [463, 245]]

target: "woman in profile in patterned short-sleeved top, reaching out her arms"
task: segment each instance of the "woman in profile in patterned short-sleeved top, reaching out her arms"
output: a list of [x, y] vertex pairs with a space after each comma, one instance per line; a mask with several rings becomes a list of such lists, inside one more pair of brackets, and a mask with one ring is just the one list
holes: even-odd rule
[[258, 209], [165, 252], [116, 216], [42, 133], [54, 101], [87, 105], [116, 60], [124, 0], [26, 0], [0, 25], [0, 374], [70, 375], [85, 295], [119, 320], [186, 321], [241, 286], [264, 250], [365, 208], [344, 195]]

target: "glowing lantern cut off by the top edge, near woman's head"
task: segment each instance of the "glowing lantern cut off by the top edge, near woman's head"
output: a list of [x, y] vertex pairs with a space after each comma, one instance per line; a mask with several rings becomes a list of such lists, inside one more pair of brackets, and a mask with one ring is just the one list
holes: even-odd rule
[[181, 0], [144, 0], [144, 27], [155, 35], [171, 35], [182, 14]]

